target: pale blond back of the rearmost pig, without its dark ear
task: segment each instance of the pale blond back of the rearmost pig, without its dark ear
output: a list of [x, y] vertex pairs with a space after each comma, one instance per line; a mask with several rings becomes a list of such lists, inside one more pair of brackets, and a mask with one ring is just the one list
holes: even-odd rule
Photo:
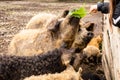
[[[26, 29], [39, 29], [39, 28], [45, 28], [47, 25], [53, 25], [55, 24], [57, 16], [50, 13], [39, 13], [31, 18], [31, 20], [27, 23]], [[50, 24], [50, 22], [53, 21], [53, 23]]]

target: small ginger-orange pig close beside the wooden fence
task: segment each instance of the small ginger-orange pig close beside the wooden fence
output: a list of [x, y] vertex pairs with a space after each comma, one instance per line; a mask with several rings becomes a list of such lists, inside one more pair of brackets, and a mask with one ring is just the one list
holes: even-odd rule
[[93, 37], [88, 45], [83, 49], [83, 55], [96, 63], [101, 62], [102, 53], [100, 53], [100, 44], [102, 43], [102, 35]]

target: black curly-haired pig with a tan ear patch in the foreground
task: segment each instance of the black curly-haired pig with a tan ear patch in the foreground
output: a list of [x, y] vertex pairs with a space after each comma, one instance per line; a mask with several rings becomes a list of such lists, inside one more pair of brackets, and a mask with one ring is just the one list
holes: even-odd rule
[[61, 72], [73, 52], [60, 48], [37, 56], [0, 55], [0, 80], [22, 80], [32, 75]]

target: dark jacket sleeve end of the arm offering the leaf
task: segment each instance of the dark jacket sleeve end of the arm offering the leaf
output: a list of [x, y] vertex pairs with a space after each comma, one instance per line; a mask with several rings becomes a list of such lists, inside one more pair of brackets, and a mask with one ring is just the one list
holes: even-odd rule
[[109, 13], [109, 2], [98, 2], [97, 9], [104, 14]]

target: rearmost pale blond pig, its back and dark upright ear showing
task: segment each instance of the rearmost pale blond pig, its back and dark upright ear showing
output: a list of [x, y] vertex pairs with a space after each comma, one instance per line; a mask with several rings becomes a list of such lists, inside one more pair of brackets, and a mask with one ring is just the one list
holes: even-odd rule
[[52, 27], [56, 23], [55, 20], [57, 18], [61, 20], [65, 18], [68, 13], [69, 10], [65, 10], [62, 15], [57, 16], [55, 14], [41, 12], [30, 19], [26, 25], [26, 29], [41, 29], [47, 28], [47, 26]]

